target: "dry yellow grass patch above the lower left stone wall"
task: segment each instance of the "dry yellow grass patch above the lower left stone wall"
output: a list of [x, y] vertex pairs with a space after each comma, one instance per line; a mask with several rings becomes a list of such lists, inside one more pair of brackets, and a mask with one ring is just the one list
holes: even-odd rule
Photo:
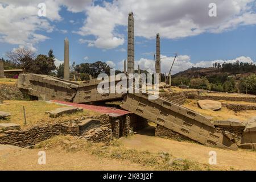
[[[0, 123], [17, 123], [22, 127], [29, 127], [38, 123], [53, 123], [53, 122], [65, 122], [71, 121], [73, 119], [80, 119], [81, 117], [91, 117], [97, 115], [93, 111], [84, 110], [79, 113], [62, 115], [58, 118], [50, 118], [46, 111], [55, 110], [59, 107], [68, 107], [63, 105], [57, 105], [53, 103], [48, 103], [44, 101], [5, 101], [6, 104], [10, 105], [0, 105], [1, 111], [6, 111], [11, 113], [9, 119], [0, 119]], [[24, 115], [23, 115], [23, 106], [26, 109], [26, 119], [27, 125], [23, 126]]]

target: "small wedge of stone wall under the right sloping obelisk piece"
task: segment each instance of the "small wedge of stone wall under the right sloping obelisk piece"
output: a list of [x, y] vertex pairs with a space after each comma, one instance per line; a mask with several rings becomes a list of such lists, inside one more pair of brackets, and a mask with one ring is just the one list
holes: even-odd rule
[[175, 131], [167, 129], [166, 127], [163, 127], [162, 125], [158, 125], [158, 124], [156, 125], [155, 136], [172, 138], [178, 141], [182, 141], [182, 140], [192, 141], [190, 138], [185, 137], [184, 135], [176, 133]]

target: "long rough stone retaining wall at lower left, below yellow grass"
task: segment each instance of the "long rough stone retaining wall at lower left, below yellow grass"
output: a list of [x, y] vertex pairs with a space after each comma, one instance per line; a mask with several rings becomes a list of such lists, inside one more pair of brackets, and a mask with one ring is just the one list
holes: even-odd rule
[[55, 123], [23, 130], [3, 131], [0, 133], [0, 144], [27, 147], [60, 134], [79, 136], [79, 126]]

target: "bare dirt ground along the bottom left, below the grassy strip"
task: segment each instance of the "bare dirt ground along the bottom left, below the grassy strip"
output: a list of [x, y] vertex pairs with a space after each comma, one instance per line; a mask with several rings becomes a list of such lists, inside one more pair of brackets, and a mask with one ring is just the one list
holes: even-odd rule
[[2, 147], [0, 170], [150, 170], [139, 164], [114, 159], [98, 158], [88, 152], [60, 152], [46, 150], [46, 165], [38, 164], [38, 152]]

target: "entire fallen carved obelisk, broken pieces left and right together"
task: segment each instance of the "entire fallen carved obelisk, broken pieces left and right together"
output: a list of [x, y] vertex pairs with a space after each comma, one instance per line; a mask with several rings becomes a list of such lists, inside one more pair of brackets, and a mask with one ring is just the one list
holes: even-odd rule
[[[110, 79], [110, 78], [109, 78]], [[155, 100], [148, 100], [150, 93], [98, 93], [97, 87], [102, 80], [92, 79], [84, 82], [72, 82], [59, 78], [35, 75], [20, 74], [18, 88], [31, 96], [44, 97], [46, 100], [60, 100], [77, 103], [95, 101], [121, 100], [124, 102], [121, 107], [132, 113], [156, 122], [176, 133], [195, 140], [199, 143], [221, 148], [236, 149], [236, 141], [233, 140], [225, 130], [216, 128], [209, 119], [203, 115], [175, 104], [164, 98], [158, 97]], [[112, 83], [110, 82], [112, 81]], [[106, 89], [110, 91], [110, 85], [117, 85], [120, 79], [106, 80]], [[119, 122], [118, 122], [119, 123]], [[215, 123], [216, 124], [216, 123]], [[123, 122], [121, 122], [123, 125]], [[114, 127], [115, 128], [115, 127]], [[117, 133], [116, 133], [117, 135]], [[117, 137], [117, 136], [115, 136]]]

